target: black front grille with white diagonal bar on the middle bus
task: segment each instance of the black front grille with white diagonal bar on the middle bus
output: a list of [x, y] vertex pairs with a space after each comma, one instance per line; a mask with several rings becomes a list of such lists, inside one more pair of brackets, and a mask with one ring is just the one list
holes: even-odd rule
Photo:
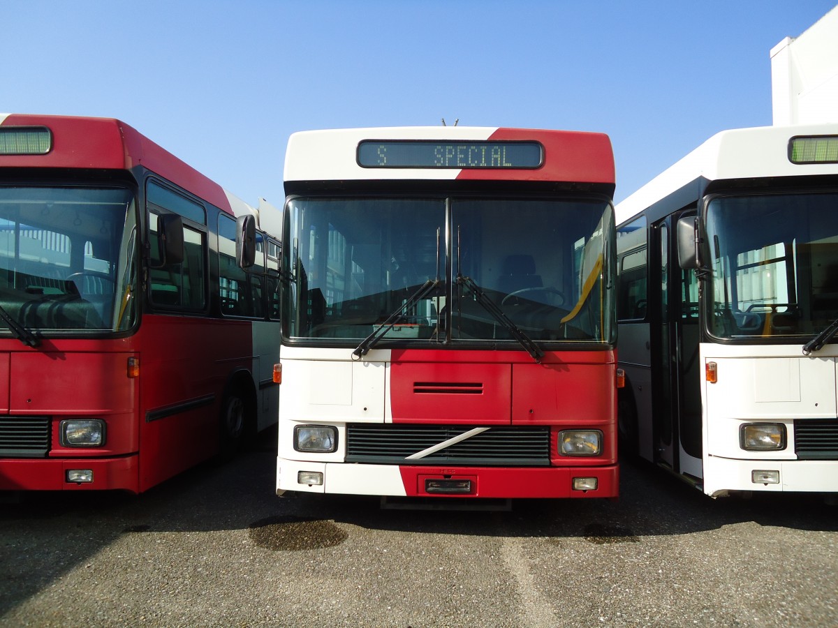
[[473, 430], [476, 425], [350, 424], [346, 461], [385, 465], [548, 466], [549, 427], [491, 427], [428, 456], [419, 451]]

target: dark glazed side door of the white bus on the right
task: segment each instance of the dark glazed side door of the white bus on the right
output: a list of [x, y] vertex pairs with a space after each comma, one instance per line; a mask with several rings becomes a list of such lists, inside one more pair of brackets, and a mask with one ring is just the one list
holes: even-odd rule
[[[671, 214], [654, 224], [651, 266], [657, 296], [650, 303], [654, 461], [679, 473], [682, 462], [701, 458], [698, 287], [695, 273], [680, 269], [675, 247], [675, 224], [690, 214]], [[686, 466], [692, 475], [701, 473], [700, 467]]]

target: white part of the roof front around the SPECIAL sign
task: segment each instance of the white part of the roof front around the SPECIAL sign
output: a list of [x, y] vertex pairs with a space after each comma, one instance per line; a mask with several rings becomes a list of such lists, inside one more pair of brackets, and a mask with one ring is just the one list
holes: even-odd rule
[[[455, 179], [457, 168], [362, 168], [354, 161], [362, 140], [488, 140], [495, 126], [389, 126], [360, 129], [299, 131], [288, 138], [285, 181], [339, 181], [351, 179]], [[351, 161], [350, 161], [351, 160]]]

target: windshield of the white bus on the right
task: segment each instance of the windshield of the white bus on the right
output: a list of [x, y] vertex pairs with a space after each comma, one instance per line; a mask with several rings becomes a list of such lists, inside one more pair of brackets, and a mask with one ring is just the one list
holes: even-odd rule
[[838, 193], [711, 198], [706, 229], [714, 336], [811, 337], [838, 318]]

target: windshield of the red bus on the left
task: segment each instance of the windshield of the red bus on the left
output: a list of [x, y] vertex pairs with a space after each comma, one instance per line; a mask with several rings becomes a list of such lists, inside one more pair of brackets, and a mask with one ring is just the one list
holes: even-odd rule
[[0, 333], [131, 327], [135, 214], [124, 188], [0, 186]]

